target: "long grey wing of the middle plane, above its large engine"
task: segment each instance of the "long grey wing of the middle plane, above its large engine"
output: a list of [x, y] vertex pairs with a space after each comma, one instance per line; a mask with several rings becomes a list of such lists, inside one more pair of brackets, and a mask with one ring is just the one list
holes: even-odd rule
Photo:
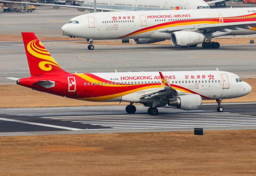
[[196, 25], [183, 25], [173, 26], [160, 29], [158, 32], [172, 33], [175, 31], [196, 31], [198, 29], [205, 29], [207, 32], [220, 31], [225, 29], [237, 30], [238, 28], [251, 29], [251, 25], [256, 25], [256, 21], [242, 21], [230, 23], [213, 23], [213, 24], [196, 24]]

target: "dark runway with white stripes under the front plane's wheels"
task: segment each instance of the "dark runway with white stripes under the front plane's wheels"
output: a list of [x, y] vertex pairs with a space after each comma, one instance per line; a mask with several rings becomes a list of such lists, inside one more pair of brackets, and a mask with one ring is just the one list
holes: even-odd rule
[[164, 107], [157, 116], [148, 115], [142, 105], [136, 105], [135, 114], [127, 114], [125, 106], [2, 108], [0, 136], [256, 129], [255, 105], [223, 103], [222, 113], [216, 104], [195, 111]]

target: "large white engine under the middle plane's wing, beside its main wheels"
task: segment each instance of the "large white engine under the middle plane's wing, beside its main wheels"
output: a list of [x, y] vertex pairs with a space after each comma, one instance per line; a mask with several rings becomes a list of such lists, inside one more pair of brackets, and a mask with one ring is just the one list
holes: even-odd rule
[[177, 31], [171, 34], [171, 42], [174, 46], [191, 46], [201, 44], [204, 40], [204, 34], [192, 31]]

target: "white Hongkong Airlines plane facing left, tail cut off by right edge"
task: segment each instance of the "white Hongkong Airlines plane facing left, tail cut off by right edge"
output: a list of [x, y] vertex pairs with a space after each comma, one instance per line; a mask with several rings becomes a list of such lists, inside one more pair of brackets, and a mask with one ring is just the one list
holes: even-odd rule
[[[61, 29], [90, 41], [133, 39], [135, 44], [149, 44], [171, 39], [174, 46], [196, 47], [203, 43], [203, 48], [219, 48], [218, 42], [211, 42], [213, 37], [256, 34], [255, 17], [253, 7], [101, 12], [74, 17]], [[88, 49], [94, 49], [92, 42]]]

